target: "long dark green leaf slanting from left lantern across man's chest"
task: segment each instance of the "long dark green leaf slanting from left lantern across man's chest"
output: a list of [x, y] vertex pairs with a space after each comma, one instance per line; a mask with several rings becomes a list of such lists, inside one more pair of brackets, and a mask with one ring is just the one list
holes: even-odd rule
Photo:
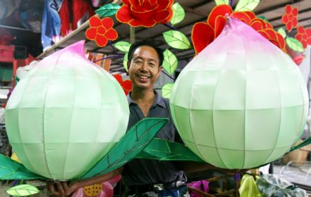
[[145, 118], [136, 123], [120, 142], [115, 144], [115, 147], [82, 178], [103, 175], [122, 167], [147, 147], [154, 135], [162, 129], [167, 121], [167, 118]]

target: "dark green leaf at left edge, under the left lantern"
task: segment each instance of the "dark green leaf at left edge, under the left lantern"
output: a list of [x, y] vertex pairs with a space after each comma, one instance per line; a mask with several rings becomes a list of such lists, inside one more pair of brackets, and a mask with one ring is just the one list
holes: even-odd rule
[[32, 180], [46, 179], [26, 169], [23, 165], [15, 160], [0, 154], [0, 180]]

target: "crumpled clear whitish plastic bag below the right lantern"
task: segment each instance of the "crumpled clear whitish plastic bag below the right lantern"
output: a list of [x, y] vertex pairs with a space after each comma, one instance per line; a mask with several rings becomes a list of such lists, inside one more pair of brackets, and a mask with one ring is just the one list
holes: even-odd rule
[[274, 174], [265, 174], [258, 178], [257, 187], [261, 194], [270, 197], [305, 197], [307, 192], [299, 187], [296, 187], [288, 180], [279, 178]]

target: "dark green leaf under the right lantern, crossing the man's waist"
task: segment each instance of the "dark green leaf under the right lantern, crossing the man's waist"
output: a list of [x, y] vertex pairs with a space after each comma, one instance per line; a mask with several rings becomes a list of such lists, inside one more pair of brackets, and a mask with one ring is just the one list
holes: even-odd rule
[[153, 138], [150, 144], [135, 158], [165, 160], [165, 161], [194, 161], [204, 162], [189, 148], [177, 142]]

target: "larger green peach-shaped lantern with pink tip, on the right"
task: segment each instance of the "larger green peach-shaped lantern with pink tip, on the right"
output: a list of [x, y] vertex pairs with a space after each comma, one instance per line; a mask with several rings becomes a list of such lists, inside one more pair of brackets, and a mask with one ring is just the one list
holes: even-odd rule
[[283, 156], [301, 136], [308, 105], [303, 77], [290, 57], [231, 18], [180, 73], [170, 99], [187, 147], [227, 169]]

